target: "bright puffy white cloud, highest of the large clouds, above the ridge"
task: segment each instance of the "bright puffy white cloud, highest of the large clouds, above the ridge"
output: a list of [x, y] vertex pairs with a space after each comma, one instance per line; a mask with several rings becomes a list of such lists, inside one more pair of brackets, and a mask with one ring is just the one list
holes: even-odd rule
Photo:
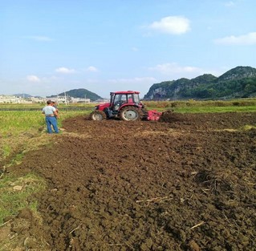
[[169, 16], [152, 22], [148, 28], [167, 34], [184, 34], [190, 30], [190, 21], [182, 16]]

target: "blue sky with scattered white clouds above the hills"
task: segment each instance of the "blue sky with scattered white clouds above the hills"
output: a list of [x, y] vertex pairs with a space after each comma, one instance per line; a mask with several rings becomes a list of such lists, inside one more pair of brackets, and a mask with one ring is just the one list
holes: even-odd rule
[[0, 0], [0, 95], [102, 97], [256, 67], [255, 0]]

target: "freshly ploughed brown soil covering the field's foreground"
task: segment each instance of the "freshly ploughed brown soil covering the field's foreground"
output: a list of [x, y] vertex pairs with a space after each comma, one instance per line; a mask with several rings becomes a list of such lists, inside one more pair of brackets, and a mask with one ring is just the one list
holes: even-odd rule
[[[67, 119], [50, 146], [10, 170], [48, 184], [36, 195], [42, 218], [25, 209], [12, 231], [24, 250], [256, 250], [248, 125], [256, 113]], [[19, 221], [30, 225], [17, 230]]]

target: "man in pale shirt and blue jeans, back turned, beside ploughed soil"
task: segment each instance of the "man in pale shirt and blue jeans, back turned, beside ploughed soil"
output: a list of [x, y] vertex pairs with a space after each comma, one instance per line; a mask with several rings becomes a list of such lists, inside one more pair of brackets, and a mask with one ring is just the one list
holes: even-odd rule
[[53, 103], [51, 100], [47, 101], [47, 106], [43, 107], [42, 113], [45, 115], [46, 123], [47, 123], [47, 132], [52, 133], [51, 126], [54, 128], [55, 133], [59, 133], [58, 125], [57, 125], [57, 118], [59, 115], [56, 111], [56, 108], [53, 107]]

